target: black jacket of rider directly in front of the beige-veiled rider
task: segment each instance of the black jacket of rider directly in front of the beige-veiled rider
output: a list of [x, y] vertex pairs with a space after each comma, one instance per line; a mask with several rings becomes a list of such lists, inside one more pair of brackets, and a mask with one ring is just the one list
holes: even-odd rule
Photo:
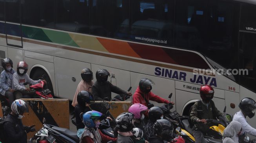
[[84, 106], [82, 107], [81, 105], [77, 104], [75, 107], [74, 107], [74, 112], [75, 112], [75, 115], [76, 115], [76, 129], [84, 129], [85, 125], [84, 123], [82, 123], [82, 120], [80, 118], [80, 114], [81, 113], [86, 113], [88, 111], [91, 111], [91, 109], [87, 106]]

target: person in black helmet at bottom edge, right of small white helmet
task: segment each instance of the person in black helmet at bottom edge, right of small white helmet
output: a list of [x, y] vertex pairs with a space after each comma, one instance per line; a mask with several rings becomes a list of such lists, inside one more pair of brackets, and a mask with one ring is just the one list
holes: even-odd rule
[[185, 140], [180, 136], [173, 140], [173, 126], [172, 123], [166, 119], [156, 120], [154, 123], [154, 130], [156, 134], [149, 138], [150, 143], [165, 143], [165, 141], [169, 141], [171, 143], [185, 143]]

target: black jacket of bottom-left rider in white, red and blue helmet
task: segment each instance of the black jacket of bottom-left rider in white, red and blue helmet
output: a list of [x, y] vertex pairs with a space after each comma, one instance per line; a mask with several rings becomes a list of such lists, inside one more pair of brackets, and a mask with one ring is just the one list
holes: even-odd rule
[[24, 130], [21, 119], [13, 114], [8, 114], [6, 118], [10, 118], [12, 122], [4, 123], [4, 130], [7, 143], [27, 143], [27, 133]]

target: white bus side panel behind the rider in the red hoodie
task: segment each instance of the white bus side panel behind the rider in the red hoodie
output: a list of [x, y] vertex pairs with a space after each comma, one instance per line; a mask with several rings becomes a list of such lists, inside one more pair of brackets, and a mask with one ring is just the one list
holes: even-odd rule
[[[153, 80], [153, 82], [155, 83], [155, 85], [152, 86], [152, 92], [155, 95], [158, 95], [164, 99], [169, 100], [168, 96], [170, 95], [170, 93], [172, 93], [172, 98], [171, 101], [175, 102], [175, 82], [174, 80], [170, 80], [170, 79], [164, 79], [161, 77], [154, 77], [151, 75], [144, 75], [144, 74], [140, 74], [140, 73], [134, 73], [131, 72], [131, 85], [132, 85], [132, 93], [135, 92], [135, 90], [138, 88], [139, 86], [139, 82], [140, 79], [142, 78], [147, 78], [147, 79], [151, 79]], [[155, 106], [162, 106], [162, 103], [157, 103], [157, 102], [153, 102], [153, 101], [149, 101], [150, 103], [153, 103]], [[176, 103], [175, 103], [176, 104]], [[179, 105], [178, 105], [179, 106]], [[173, 110], [176, 109], [175, 105]]]

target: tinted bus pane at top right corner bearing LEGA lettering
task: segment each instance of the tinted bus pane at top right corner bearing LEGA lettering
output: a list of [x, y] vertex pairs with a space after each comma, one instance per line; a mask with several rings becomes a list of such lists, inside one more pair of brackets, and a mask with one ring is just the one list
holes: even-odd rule
[[256, 31], [256, 5], [241, 4], [241, 23], [240, 29]]

